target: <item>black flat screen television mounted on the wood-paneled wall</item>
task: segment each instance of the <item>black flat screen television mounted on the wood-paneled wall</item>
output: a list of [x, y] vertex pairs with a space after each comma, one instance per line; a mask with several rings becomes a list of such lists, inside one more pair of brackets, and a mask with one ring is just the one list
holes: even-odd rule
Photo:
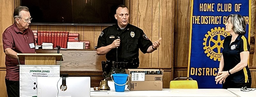
[[116, 7], [124, 0], [21, 0], [31, 24], [112, 25]]

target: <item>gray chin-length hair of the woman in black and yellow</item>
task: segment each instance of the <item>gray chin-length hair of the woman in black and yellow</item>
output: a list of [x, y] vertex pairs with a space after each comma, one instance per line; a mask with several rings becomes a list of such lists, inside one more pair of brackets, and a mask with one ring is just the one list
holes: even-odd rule
[[[239, 14], [230, 14], [228, 16], [230, 18], [230, 22], [233, 25], [232, 30], [235, 34], [242, 34], [246, 33], [246, 24], [244, 18]], [[227, 20], [228, 20], [227, 18]]]

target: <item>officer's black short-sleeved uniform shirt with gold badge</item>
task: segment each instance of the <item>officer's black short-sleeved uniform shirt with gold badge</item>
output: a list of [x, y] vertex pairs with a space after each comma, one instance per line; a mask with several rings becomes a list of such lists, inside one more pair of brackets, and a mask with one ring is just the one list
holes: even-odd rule
[[147, 53], [148, 47], [152, 45], [152, 42], [143, 30], [128, 24], [124, 29], [120, 29], [118, 25], [105, 28], [98, 38], [97, 48], [110, 45], [117, 39], [117, 36], [120, 36], [120, 46], [111, 49], [106, 54], [107, 60], [116, 61], [116, 49], [118, 62], [138, 58], [139, 48], [145, 54]]

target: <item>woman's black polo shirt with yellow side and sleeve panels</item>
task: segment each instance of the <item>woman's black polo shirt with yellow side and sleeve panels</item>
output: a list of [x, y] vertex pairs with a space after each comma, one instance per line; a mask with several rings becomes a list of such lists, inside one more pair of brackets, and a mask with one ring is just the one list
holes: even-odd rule
[[[231, 42], [232, 36], [227, 36], [223, 42], [222, 56], [224, 61], [223, 71], [228, 71], [240, 63], [240, 53], [243, 51], [250, 51], [250, 44], [244, 35], [238, 35], [234, 42]], [[230, 44], [230, 45], [229, 45]], [[247, 83], [251, 80], [251, 73], [248, 65], [244, 69], [237, 71], [226, 78], [226, 81], [235, 83]]]

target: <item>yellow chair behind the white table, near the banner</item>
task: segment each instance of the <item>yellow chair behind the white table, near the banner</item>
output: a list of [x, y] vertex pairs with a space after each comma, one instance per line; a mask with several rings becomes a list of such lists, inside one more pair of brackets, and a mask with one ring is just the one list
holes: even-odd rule
[[[178, 80], [189, 79], [189, 80]], [[178, 77], [170, 81], [170, 89], [198, 89], [197, 81], [190, 77]]]

